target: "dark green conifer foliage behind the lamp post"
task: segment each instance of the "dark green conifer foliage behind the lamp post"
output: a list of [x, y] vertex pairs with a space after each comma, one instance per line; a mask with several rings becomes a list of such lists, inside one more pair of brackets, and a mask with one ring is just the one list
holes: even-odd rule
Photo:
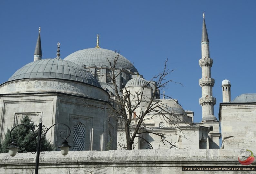
[[[28, 125], [24, 126], [18, 126], [12, 131], [12, 138], [16, 140], [17, 145], [21, 148], [18, 150], [19, 153], [25, 153], [25, 152], [36, 152], [36, 144], [37, 144], [37, 134], [36, 134], [36, 141], [34, 138], [34, 133], [31, 131], [31, 129], [35, 128], [38, 129], [38, 127], [35, 127], [33, 122], [29, 119], [28, 116], [24, 116], [21, 119], [21, 124]], [[1, 144], [2, 147], [0, 150], [2, 150], [1, 153], [8, 152], [8, 149], [6, 149], [8, 146], [10, 146], [10, 143], [12, 142], [12, 139], [10, 137], [10, 129], [7, 129], [7, 132], [5, 133], [5, 140]], [[41, 138], [41, 142], [43, 140], [43, 136]], [[43, 144], [41, 145], [41, 151], [53, 151], [53, 145], [50, 144], [50, 142], [46, 139], [44, 139]]]

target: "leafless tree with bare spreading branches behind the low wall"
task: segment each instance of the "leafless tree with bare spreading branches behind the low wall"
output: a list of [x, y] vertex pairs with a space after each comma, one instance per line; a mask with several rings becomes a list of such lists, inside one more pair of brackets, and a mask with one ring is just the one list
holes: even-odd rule
[[[117, 78], [123, 71], [126, 71], [126, 69], [120, 70], [116, 67], [118, 60], [118, 52], [115, 53], [115, 59], [113, 61], [108, 60], [112, 75], [106, 76], [108, 76], [113, 83], [110, 87], [113, 89], [115, 97], [114, 101], [109, 103], [111, 107], [105, 109], [110, 109], [112, 114], [119, 117], [119, 128], [122, 129], [125, 134], [125, 140], [123, 140], [123, 142], [118, 142], [119, 148], [128, 150], [134, 149], [137, 145], [134, 143], [134, 140], [140, 138], [147, 142], [151, 149], [153, 149], [151, 143], [142, 136], [143, 133], [157, 135], [161, 137], [160, 142], [163, 144], [168, 143], [173, 145], [175, 142], [172, 143], [171, 140], [166, 140], [165, 134], [154, 132], [154, 130], [147, 127], [146, 124], [148, 120], [153, 119], [155, 116], [160, 117], [168, 124], [168, 127], [176, 129], [179, 128], [179, 122], [185, 123], [183, 117], [181, 118], [179, 115], [175, 114], [175, 111], [159, 98], [159, 91], [167, 87], [169, 83], [174, 82], [167, 79], [167, 76], [174, 71], [169, 71], [166, 68], [168, 59], [164, 62], [162, 72], [153, 77], [150, 81], [146, 81], [146, 83], [143, 86], [140, 86], [136, 91], [130, 91], [127, 90], [127, 88], [122, 89], [122, 87], [118, 85]], [[152, 92], [150, 95], [146, 95], [145, 91], [149, 87], [152, 87]], [[177, 103], [177, 105], [179, 104]], [[137, 114], [135, 114], [135, 111], [137, 111]], [[134, 117], [135, 123], [132, 122]]]

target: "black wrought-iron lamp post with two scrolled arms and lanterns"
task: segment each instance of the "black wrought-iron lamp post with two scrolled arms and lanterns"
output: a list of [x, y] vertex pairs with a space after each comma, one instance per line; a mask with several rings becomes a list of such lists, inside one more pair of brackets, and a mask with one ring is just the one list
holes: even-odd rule
[[[52, 125], [52, 126], [49, 127], [49, 128], [43, 129], [44, 126], [42, 126], [42, 117], [41, 117], [41, 118], [40, 118], [40, 123], [39, 123], [39, 125], [36, 125], [36, 126], [34, 126], [34, 127], [30, 127], [30, 126], [28, 126], [28, 125], [26, 125], [26, 124], [19, 124], [19, 125], [15, 126], [14, 128], [12, 128], [12, 130], [11, 130], [11, 132], [10, 132], [10, 137], [11, 137], [12, 143], [10, 144], [9, 147], [7, 147], [7, 149], [9, 149], [9, 154], [10, 154], [10, 156], [14, 157], [14, 156], [17, 154], [18, 149], [20, 149], [20, 148], [18, 147], [17, 143], [16, 143], [16, 140], [18, 140], [18, 138], [13, 139], [12, 136], [11, 136], [11, 135], [12, 135], [12, 131], [13, 131], [16, 127], [21, 126], [21, 125], [28, 127], [28, 128], [34, 133], [34, 140], [35, 140], [35, 143], [36, 143], [35, 174], [38, 174], [39, 156], [40, 156], [40, 153], [42, 153], [42, 152], [41, 152], [41, 145], [42, 145], [43, 142], [44, 142], [46, 133], [47, 133], [53, 126], [55, 126], [55, 125], [57, 125], [57, 124], [65, 125], [65, 126], [67, 126], [67, 128], [69, 129], [69, 134], [68, 134], [67, 137], [64, 137], [64, 138], [63, 138], [63, 137], [61, 136], [61, 133], [65, 133], [65, 131], [62, 130], [62, 131], [60, 132], [60, 137], [63, 139], [63, 142], [61, 142], [61, 146], [58, 147], [58, 148], [60, 148], [62, 155], [67, 155], [67, 154], [68, 154], [68, 151], [69, 151], [69, 148], [71, 147], [70, 145], [68, 145], [68, 142], [66, 141], [66, 139], [70, 136], [70, 133], [71, 133], [70, 127], [69, 127], [68, 125], [66, 125], [66, 124], [63, 124], [63, 123], [56, 123], [56, 124]], [[36, 127], [38, 127], [37, 130], [35, 130]], [[42, 135], [43, 135], [43, 137], [42, 137]], [[37, 137], [37, 136], [38, 136], [38, 140], [37, 140], [37, 142], [36, 142], [36, 137]], [[41, 141], [41, 140], [42, 140], [42, 141]], [[43, 154], [43, 153], [42, 153], [42, 154]]]

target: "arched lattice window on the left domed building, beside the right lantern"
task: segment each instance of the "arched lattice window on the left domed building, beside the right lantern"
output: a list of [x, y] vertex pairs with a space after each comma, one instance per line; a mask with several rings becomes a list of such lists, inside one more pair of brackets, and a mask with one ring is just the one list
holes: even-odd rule
[[78, 123], [73, 128], [73, 151], [84, 151], [85, 145], [85, 127]]

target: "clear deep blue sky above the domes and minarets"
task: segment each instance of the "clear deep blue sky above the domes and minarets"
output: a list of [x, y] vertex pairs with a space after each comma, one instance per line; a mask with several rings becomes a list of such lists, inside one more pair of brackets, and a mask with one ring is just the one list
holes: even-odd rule
[[168, 58], [166, 95], [178, 99], [185, 110], [202, 119], [201, 58], [202, 13], [210, 40], [214, 111], [222, 102], [221, 82], [231, 81], [231, 99], [256, 92], [256, 1], [0, 1], [0, 83], [33, 61], [41, 26], [44, 58], [61, 58], [96, 46], [119, 50], [147, 80], [161, 72]]

